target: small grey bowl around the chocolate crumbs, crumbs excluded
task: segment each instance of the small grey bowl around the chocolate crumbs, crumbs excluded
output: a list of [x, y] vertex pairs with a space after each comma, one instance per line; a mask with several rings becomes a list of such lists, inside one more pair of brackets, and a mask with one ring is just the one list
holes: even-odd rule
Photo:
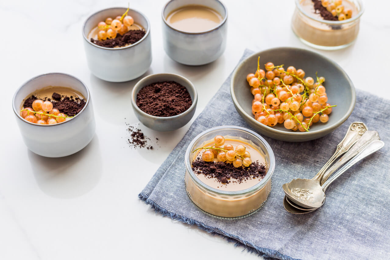
[[[186, 87], [192, 100], [192, 105], [189, 109], [176, 116], [160, 117], [149, 115], [137, 106], [137, 94], [140, 89], [152, 83], [163, 81], [175, 81]], [[187, 78], [176, 74], [161, 73], [146, 76], [145, 78], [142, 78], [140, 81], [138, 81], [137, 84], [135, 84], [133, 92], [131, 93], [131, 105], [138, 120], [140, 120], [140, 122], [145, 126], [160, 132], [173, 131], [186, 125], [195, 113], [197, 102], [198, 94], [194, 85]]]

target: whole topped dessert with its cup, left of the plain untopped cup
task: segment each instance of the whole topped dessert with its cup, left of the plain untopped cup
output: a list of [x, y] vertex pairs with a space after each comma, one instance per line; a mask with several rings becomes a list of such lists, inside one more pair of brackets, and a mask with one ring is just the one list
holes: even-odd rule
[[83, 25], [88, 67], [111, 82], [140, 77], [152, 63], [149, 20], [139, 11], [114, 7], [92, 14]]

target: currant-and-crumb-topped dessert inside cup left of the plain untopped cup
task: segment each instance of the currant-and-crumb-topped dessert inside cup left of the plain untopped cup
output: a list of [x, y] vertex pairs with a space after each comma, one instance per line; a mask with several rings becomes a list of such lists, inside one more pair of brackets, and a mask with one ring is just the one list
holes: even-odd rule
[[115, 18], [107, 17], [104, 21], [100, 21], [89, 32], [88, 39], [106, 48], [120, 48], [142, 39], [146, 34], [145, 29], [128, 15], [128, 11], [129, 9]]

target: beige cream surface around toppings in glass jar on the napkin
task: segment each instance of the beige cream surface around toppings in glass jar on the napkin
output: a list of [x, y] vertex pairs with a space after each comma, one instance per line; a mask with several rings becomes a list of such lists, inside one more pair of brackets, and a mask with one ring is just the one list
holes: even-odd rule
[[[214, 143], [209, 143], [209, 144], [206, 144], [205, 147], [208, 147], [208, 146], [212, 146]], [[256, 148], [254, 148], [252, 145], [248, 144], [247, 142], [243, 142], [243, 141], [240, 141], [240, 140], [236, 140], [236, 139], [225, 139], [225, 144], [232, 144], [234, 147], [236, 147], [237, 145], [239, 144], [243, 144], [246, 148], [246, 151], [248, 151], [250, 153], [250, 157], [252, 158], [252, 162], [259, 162], [259, 164], [263, 164], [264, 166], [266, 166], [266, 161], [263, 157], [263, 155], [260, 153], [259, 150], [257, 150]], [[197, 157], [202, 157], [202, 153], [203, 153], [204, 150], [199, 150], [199, 152], [197, 153], [197, 155], [194, 157], [194, 158], [197, 158]], [[216, 158], [214, 158], [214, 161], [215, 162], [218, 162], [218, 160]], [[244, 180], [242, 182], [235, 182], [235, 179], [232, 178], [230, 179], [230, 183], [226, 184], [226, 183], [221, 183], [220, 181], [217, 180], [217, 178], [209, 178], [209, 176], [206, 176], [204, 174], [195, 174], [198, 179], [205, 183], [206, 185], [210, 186], [210, 187], [213, 187], [214, 189], [218, 189], [218, 190], [221, 190], [221, 191], [242, 191], [242, 190], [245, 190], [245, 189], [248, 189], [250, 187], [253, 187], [255, 186], [256, 184], [258, 184], [262, 178], [251, 178], [249, 180]]]

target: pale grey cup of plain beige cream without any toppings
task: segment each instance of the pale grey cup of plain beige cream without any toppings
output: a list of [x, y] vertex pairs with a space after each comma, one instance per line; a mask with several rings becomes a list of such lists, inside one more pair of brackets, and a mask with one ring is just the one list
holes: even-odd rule
[[163, 8], [163, 46], [185, 65], [204, 65], [226, 48], [227, 9], [219, 0], [170, 0]]

